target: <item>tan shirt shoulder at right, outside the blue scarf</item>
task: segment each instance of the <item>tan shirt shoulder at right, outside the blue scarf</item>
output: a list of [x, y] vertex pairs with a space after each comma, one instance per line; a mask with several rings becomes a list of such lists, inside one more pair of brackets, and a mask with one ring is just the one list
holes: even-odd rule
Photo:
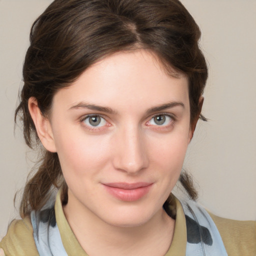
[[256, 255], [256, 221], [241, 221], [209, 213], [223, 240], [227, 254]]

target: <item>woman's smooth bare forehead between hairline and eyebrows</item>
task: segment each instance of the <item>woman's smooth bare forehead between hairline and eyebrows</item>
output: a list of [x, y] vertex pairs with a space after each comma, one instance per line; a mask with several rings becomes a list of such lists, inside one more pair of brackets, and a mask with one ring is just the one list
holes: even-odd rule
[[81, 101], [143, 108], [169, 101], [186, 104], [188, 79], [182, 73], [168, 74], [149, 51], [117, 52], [91, 65], [73, 84], [60, 89], [53, 102], [56, 100], [70, 106]]

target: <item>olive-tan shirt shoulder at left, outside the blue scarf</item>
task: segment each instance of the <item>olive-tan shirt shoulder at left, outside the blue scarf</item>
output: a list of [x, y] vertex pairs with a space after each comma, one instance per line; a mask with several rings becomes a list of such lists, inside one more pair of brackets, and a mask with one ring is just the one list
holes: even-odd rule
[[6, 235], [0, 241], [0, 248], [9, 255], [39, 255], [33, 239], [33, 228], [30, 217], [13, 220]]

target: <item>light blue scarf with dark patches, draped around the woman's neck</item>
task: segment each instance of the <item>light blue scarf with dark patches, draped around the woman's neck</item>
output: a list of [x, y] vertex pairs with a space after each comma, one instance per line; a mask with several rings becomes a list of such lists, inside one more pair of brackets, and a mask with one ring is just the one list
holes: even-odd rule
[[[186, 219], [186, 256], [227, 256], [220, 234], [207, 213], [196, 202], [179, 199]], [[67, 256], [56, 224], [55, 199], [40, 211], [31, 212], [33, 237], [40, 256]]]

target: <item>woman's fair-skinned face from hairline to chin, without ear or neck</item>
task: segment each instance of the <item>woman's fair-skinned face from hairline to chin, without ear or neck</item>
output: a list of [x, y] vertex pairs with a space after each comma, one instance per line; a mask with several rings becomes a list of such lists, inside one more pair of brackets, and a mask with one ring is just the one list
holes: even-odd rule
[[188, 81], [148, 51], [115, 53], [55, 94], [50, 125], [66, 207], [140, 225], [161, 213], [180, 174], [191, 137]]

